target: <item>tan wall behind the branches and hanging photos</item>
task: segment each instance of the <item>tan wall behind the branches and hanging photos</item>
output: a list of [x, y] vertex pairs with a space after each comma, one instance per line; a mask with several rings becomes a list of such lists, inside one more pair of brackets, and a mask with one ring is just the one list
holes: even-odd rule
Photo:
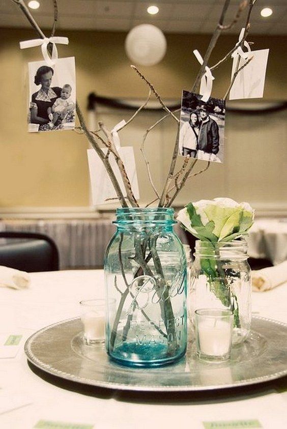
[[[0, 105], [0, 207], [88, 206], [89, 176], [87, 141], [75, 132], [28, 134], [26, 132], [27, 62], [41, 59], [40, 49], [19, 49], [19, 41], [35, 38], [33, 31], [1, 29]], [[59, 32], [69, 37], [69, 46], [59, 46], [60, 56], [75, 55], [77, 98], [83, 110], [87, 96], [95, 91], [106, 97], [143, 98], [145, 84], [129, 68], [124, 52], [125, 34]], [[156, 66], [141, 70], [163, 98], [180, 99], [182, 89], [190, 89], [198, 70], [192, 50], [204, 53], [209, 41], [202, 35], [167, 35], [168, 50]], [[265, 99], [286, 99], [287, 59], [282, 55], [287, 37], [256, 37], [253, 49], [270, 48]], [[215, 50], [215, 63], [236, 42], [224, 36]], [[228, 84], [230, 63], [215, 73], [213, 96], [223, 96]], [[108, 125], [127, 112], [103, 113]], [[123, 145], [135, 146], [142, 203], [152, 199], [147, 190], [145, 168], [140, 158], [140, 135], [153, 122], [150, 114], [138, 118], [123, 133]], [[167, 123], [150, 137], [148, 152], [158, 186], [162, 183], [173, 145], [174, 129]], [[287, 204], [286, 111], [268, 116], [229, 115], [226, 119], [224, 165], [212, 165], [196, 178], [178, 199], [228, 195], [260, 204]], [[136, 141], [135, 141], [136, 140]], [[279, 179], [280, 178], [280, 179]]]

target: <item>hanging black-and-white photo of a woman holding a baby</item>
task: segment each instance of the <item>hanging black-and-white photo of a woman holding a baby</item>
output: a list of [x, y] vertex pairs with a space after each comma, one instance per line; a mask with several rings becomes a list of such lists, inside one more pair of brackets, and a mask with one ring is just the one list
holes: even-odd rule
[[28, 63], [28, 131], [72, 130], [75, 128], [75, 58]]

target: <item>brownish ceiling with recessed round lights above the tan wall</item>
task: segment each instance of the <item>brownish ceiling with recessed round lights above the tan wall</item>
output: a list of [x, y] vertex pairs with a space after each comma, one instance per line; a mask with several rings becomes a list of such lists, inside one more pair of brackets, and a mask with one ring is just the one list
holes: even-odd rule
[[[31, 10], [42, 28], [53, 22], [52, 0], [39, 0], [41, 6]], [[27, 1], [26, 1], [27, 3]], [[224, 0], [58, 0], [59, 30], [129, 31], [142, 23], [153, 23], [165, 33], [212, 33], [220, 16]], [[231, 0], [226, 22], [236, 15], [240, 0]], [[157, 5], [159, 13], [149, 15], [147, 7]], [[273, 14], [262, 18], [263, 7]], [[243, 13], [230, 33], [243, 26]], [[287, 0], [257, 0], [251, 16], [252, 34], [287, 35]], [[27, 19], [12, 0], [0, 2], [0, 26], [29, 27]]]

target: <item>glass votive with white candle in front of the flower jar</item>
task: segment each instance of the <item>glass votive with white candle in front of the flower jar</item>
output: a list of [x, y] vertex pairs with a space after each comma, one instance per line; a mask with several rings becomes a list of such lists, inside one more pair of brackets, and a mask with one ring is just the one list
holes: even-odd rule
[[199, 359], [222, 362], [230, 358], [233, 312], [228, 309], [195, 310], [195, 343]]

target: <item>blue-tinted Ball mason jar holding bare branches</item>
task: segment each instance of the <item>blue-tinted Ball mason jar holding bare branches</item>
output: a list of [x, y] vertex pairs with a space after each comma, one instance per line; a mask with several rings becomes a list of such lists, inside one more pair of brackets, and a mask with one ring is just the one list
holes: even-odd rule
[[171, 208], [121, 208], [105, 255], [106, 350], [128, 366], [160, 366], [186, 352], [186, 257]]

